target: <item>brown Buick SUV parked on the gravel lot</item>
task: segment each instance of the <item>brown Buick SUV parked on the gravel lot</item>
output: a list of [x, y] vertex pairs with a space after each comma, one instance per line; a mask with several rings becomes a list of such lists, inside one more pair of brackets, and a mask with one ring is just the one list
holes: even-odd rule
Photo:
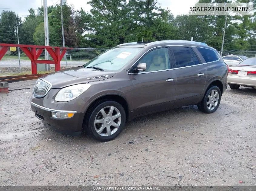
[[99, 141], [116, 138], [128, 120], [197, 104], [217, 110], [228, 67], [204, 43], [183, 40], [125, 43], [80, 67], [36, 81], [31, 107], [51, 129]]

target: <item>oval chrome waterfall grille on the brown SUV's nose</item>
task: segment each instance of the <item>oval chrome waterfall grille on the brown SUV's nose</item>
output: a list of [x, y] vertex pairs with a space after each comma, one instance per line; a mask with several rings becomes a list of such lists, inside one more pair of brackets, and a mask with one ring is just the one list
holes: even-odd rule
[[34, 96], [35, 97], [44, 97], [48, 91], [52, 88], [52, 84], [46, 80], [38, 79], [34, 86]]

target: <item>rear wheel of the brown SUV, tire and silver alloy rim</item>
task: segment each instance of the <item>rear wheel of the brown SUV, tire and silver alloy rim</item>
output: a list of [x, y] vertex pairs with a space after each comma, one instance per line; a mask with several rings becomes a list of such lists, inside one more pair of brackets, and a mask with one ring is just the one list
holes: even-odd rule
[[[213, 92], [214, 92], [214, 94], [212, 97]], [[216, 94], [216, 92], [218, 94]], [[218, 98], [218, 102], [216, 100], [217, 98]], [[207, 91], [204, 94], [203, 99], [201, 100], [200, 103], [197, 104], [197, 107], [200, 111], [202, 111], [204, 113], [213, 113], [214, 111], [216, 111], [218, 109], [220, 102], [221, 102], [220, 88], [218, 88], [217, 86], [211, 86], [207, 89]]]

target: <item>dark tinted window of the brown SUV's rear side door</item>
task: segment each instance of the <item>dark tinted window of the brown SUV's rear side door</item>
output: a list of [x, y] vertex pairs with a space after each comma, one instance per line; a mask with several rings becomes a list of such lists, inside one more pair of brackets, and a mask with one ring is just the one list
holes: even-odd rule
[[[172, 47], [177, 68], [194, 65], [194, 59], [191, 54], [191, 49], [187, 47]], [[196, 55], [194, 55], [196, 57]], [[196, 57], [197, 58], [197, 57]], [[198, 59], [195, 60], [199, 63]]]

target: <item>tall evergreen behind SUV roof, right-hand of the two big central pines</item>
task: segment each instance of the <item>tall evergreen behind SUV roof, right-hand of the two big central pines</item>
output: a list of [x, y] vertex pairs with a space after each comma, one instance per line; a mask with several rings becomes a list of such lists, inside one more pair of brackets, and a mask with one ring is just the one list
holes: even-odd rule
[[173, 15], [163, 9], [156, 0], [130, 0], [130, 16], [133, 19], [134, 33], [139, 40], [145, 41], [174, 39]]

